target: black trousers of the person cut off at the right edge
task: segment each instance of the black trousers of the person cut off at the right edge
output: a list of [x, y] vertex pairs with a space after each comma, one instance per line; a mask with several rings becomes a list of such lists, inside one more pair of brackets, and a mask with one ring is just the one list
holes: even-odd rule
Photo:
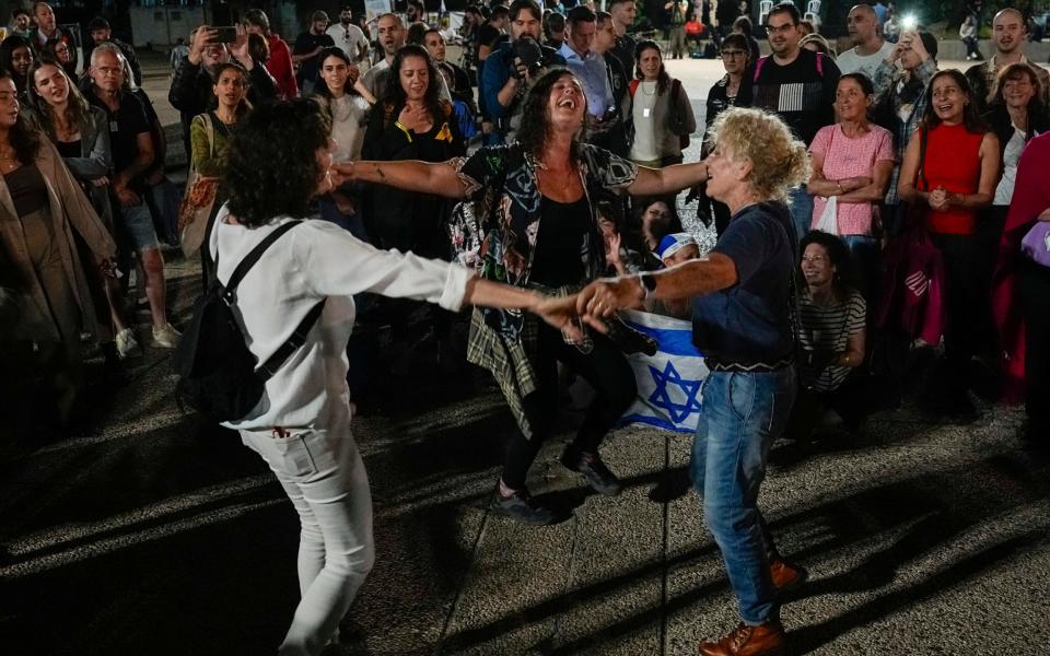
[[1017, 278], [1025, 317], [1025, 410], [1032, 425], [1046, 434], [1050, 430], [1050, 268], [1025, 261]]

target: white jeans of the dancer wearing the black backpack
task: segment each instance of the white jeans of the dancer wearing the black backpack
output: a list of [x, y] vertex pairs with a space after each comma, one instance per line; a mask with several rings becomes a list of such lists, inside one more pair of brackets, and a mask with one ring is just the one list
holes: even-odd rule
[[326, 429], [241, 431], [299, 513], [302, 596], [281, 656], [320, 653], [337, 635], [375, 560], [369, 479], [350, 433], [349, 408], [340, 414]]

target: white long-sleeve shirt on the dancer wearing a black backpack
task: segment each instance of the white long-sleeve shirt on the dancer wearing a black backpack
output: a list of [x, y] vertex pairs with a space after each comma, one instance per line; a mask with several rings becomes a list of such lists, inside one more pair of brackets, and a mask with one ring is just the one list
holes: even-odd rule
[[[223, 207], [215, 218], [209, 248], [218, 254], [220, 281], [230, 280], [241, 260], [290, 218], [247, 229], [225, 223]], [[324, 312], [306, 337], [266, 383], [259, 405], [225, 426], [243, 430], [323, 427], [345, 414], [347, 340], [353, 330], [353, 294], [417, 298], [459, 309], [474, 273], [457, 265], [380, 250], [334, 223], [307, 220], [282, 235], [237, 286], [234, 315], [248, 349], [265, 362], [322, 298]]]

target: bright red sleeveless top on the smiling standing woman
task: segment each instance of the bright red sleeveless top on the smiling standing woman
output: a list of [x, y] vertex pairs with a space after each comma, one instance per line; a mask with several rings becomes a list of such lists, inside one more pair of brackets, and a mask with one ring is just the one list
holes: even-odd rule
[[[977, 194], [981, 181], [983, 140], [983, 133], [975, 134], [962, 124], [941, 124], [930, 130], [922, 172], [925, 175], [920, 174], [917, 188], [932, 191], [944, 187], [955, 194]], [[949, 208], [938, 212], [926, 209], [926, 227], [935, 234], [972, 235], [977, 230], [977, 210]]]

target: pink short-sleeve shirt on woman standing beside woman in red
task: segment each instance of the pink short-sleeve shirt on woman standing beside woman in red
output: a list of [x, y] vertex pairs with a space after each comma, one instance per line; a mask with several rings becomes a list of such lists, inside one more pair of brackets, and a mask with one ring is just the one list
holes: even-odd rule
[[[810, 153], [824, 155], [824, 177], [840, 180], [849, 177], [873, 177], [875, 163], [884, 160], [895, 161], [894, 136], [889, 130], [868, 125], [868, 131], [862, 137], [851, 138], [842, 132], [838, 124], [820, 128], [809, 144]], [[816, 227], [827, 199], [813, 198], [813, 222]], [[838, 223], [840, 235], [871, 235], [872, 221], [878, 215], [878, 207], [873, 202], [839, 202]]]

